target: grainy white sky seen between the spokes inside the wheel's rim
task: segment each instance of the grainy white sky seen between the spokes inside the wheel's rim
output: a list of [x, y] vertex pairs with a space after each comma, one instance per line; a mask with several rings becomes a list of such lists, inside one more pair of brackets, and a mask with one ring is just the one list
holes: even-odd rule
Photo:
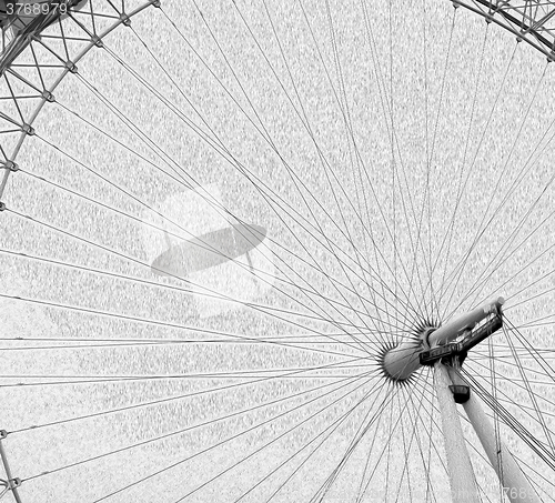
[[[485, 22], [463, 9], [457, 12], [455, 28], [451, 32], [453, 8], [448, 2], [403, 1], [392, 6], [390, 2], [367, 2], [375, 46], [369, 44], [359, 1], [331, 1], [329, 6], [327, 2], [303, 1], [312, 32], [307, 29], [301, 3], [266, 3], [198, 2], [203, 13], [201, 17], [193, 2], [164, 2], [167, 13], [186, 36], [190, 46], [155, 9], [148, 9], [132, 20], [133, 29], [179, 82], [181, 92], [172, 85], [129, 29], [118, 29], [105, 40], [110, 50], [137, 69], [186, 117], [206, 130], [202, 121], [210, 124], [213, 134], [218, 134], [234, 159], [240, 160], [254, 175], [251, 180], [201, 141], [105, 51], [94, 50], [79, 64], [80, 73], [88, 82], [118, 103], [127, 117], [184, 169], [186, 177], [194, 180], [192, 187], [196, 188], [196, 193], [208, 190], [232, 214], [268, 229], [269, 239], [250, 258], [256, 274], [249, 272], [250, 262], [246, 256], [242, 256], [236, 263], [230, 262], [202, 271], [193, 278], [176, 280], [157, 276], [148, 265], [163, 247], [163, 233], [159, 230], [121, 217], [26, 173], [18, 173], [10, 179], [3, 198], [9, 208], [115, 250], [135, 261], [115, 256], [82, 240], [61, 235], [12, 213], [4, 213], [0, 218], [2, 249], [153, 281], [159, 286], [2, 254], [0, 289], [3, 294], [154, 321], [137, 322], [4, 298], [0, 301], [2, 338], [74, 338], [80, 341], [181, 338], [201, 342], [213, 336], [202, 334], [199, 330], [253, 339], [294, 336], [306, 333], [307, 330], [336, 333], [337, 328], [332, 323], [307, 318], [307, 314], [314, 314], [309, 308], [315, 310], [319, 316], [330, 316], [340, 323], [346, 320], [346, 323], [360, 324], [361, 320], [346, 308], [330, 308], [314, 292], [337, 301], [342, 300], [341, 294], [345, 295], [357, 309], [364, 311], [356, 295], [349, 292], [349, 286], [363, 292], [366, 299], [372, 289], [381, 291], [376, 279], [369, 280], [355, 268], [361, 258], [356, 256], [349, 244], [345, 232], [350, 233], [357, 250], [364, 253], [376, 271], [380, 264], [379, 275], [383, 282], [395, 288], [396, 278], [405, 291], [410, 290], [410, 272], [402, 270], [403, 264], [410, 268], [414, 263], [423, 275], [426, 274], [427, 254], [423, 249], [431, 243], [432, 256], [440, 256], [440, 266], [433, 280], [434, 286], [438, 288], [445, 280], [445, 265], [450, 271], [461, 260], [483, 215], [491, 214], [491, 209], [502, 203], [507, 193], [508, 200], [503, 203], [487, 232], [481, 237], [476, 252], [453, 290], [451, 302], [447, 302], [447, 295], [443, 300], [442, 310], [457, 306], [457, 299], [472, 289], [482, 270], [490, 266], [488, 261], [495, 256], [501, 243], [517, 230], [515, 241], [509, 247], [511, 252], [506, 254], [507, 260], [494, 268], [485, 288], [475, 298], [466, 300], [460, 310], [471, 308], [475, 302], [494, 294], [508, 298], [507, 308], [511, 306], [511, 301], [516, 304], [527, 296], [542, 294], [534, 301], [507, 310], [507, 316], [514, 324], [521, 325], [552, 314], [549, 304], [553, 304], [553, 292], [549, 293], [549, 289], [554, 286], [553, 275], [534, 284], [551, 271], [554, 263], [554, 253], [549, 247], [554, 241], [555, 228], [553, 220], [544, 221], [551, 215], [554, 200], [554, 189], [549, 184], [554, 165], [553, 148], [547, 143], [549, 135], [542, 143], [542, 147], [547, 145], [542, 155], [534, 157], [529, 164], [527, 160], [538, 140], [549, 131], [549, 124], [555, 118], [553, 66], [545, 69], [545, 59], [522, 43], [515, 52], [511, 71], [504, 79], [516, 44], [514, 38], [495, 26], [487, 28], [486, 32]], [[326, 7], [332, 19], [336, 53], [333, 50]], [[269, 21], [269, 13], [275, 32]], [[245, 22], [252, 31], [249, 31]], [[215, 43], [211, 32], [220, 46]], [[191, 50], [192, 47], [198, 54]], [[448, 64], [445, 67], [448, 47]], [[198, 56], [203, 58], [211, 71], [206, 70]], [[335, 57], [341, 64], [341, 77]], [[541, 79], [544, 70], [545, 76]], [[214, 76], [218, 76], [225, 90]], [[56, 94], [64, 107], [87, 118], [109, 135], [132, 145], [147, 159], [163, 165], [151, 150], [107, 112], [102, 103], [78, 79], [70, 76]], [[492, 113], [497, 94], [501, 98]], [[389, 107], [393, 112], [384, 113], [384, 100], [391, 100]], [[361, 168], [364, 170], [361, 171], [364, 173], [362, 181], [356, 160], [352, 163], [352, 157], [355, 155], [353, 139], [346, 132], [337, 101], [341, 101], [342, 107], [346, 101], [349, 107], [354, 141], [364, 164]], [[332, 177], [333, 171], [336, 177], [331, 184], [319, 150], [297, 113], [309, 118], [320, 153], [327, 163], [327, 175]], [[390, 129], [392, 120], [393, 160]], [[281, 158], [253, 124], [265, 131]], [[124, 211], [139, 221], [163, 224], [163, 220], [157, 221], [155, 214], [147, 211], [137, 200], [150, 208], [163, 209], [161, 211], [165, 217], [181, 219], [178, 228], [170, 224], [169, 229], [178, 234], [180, 230], [184, 230], [183, 239], [190, 234], [200, 235], [223, 228], [230, 221], [221, 212], [214, 212], [211, 204], [202, 198], [193, 197], [188, 183], [178, 183], [58, 105], [44, 109], [36, 128], [42, 138], [71, 153], [82, 164], [39, 139], [31, 138], [19, 155], [20, 165], [30, 173], [71, 188], [112, 209]], [[431, 151], [433, 162], [428, 167], [426, 158]], [[525, 175], [521, 178], [521, 170], [528, 165], [529, 170], [524, 171]], [[170, 169], [165, 169], [170, 172]], [[113, 185], [107, 184], [99, 174]], [[445, 250], [441, 250], [441, 243], [456, 205], [461, 180], [466, 182], [447, 254]], [[515, 180], [516, 190], [513, 191]], [[199, 185], [201, 189], [198, 189]], [[299, 189], [300, 187], [302, 188]], [[274, 203], [269, 204], [261, 188], [270, 188], [274, 191], [274, 197], [282, 198], [285, 203], [283, 208], [287, 211]], [[137, 200], [123, 194], [120, 189], [132, 193]], [[538, 199], [539, 195], [542, 197]], [[527, 210], [536, 200], [528, 214]], [[184, 201], [183, 208], [176, 210], [175, 203], [172, 205], [169, 201]], [[418, 210], [423, 201], [426, 201], [426, 210], [424, 223], [420, 228]], [[408, 212], [410, 218], [405, 217], [405, 212]], [[521, 227], [523, 217], [524, 225]], [[369, 232], [363, 230], [360, 218], [366, 229], [371, 229], [376, 248], [386, 258], [389, 268], [372, 251], [367, 242]], [[315, 225], [315, 229], [320, 225], [322, 233], [337, 245], [341, 250], [337, 253], [355, 268], [357, 275], [349, 271], [345, 274], [336, 258], [307, 232], [306, 222]], [[541, 223], [539, 231], [528, 238]], [[417, 232], [425, 244], [415, 253], [412, 240]], [[330, 242], [323, 242], [330, 245]], [[517, 247], [521, 242], [522, 245]], [[349, 262], [347, 255], [354, 259]], [[541, 258], [532, 262], [537, 255]], [[521, 271], [526, 264], [529, 266]], [[346, 286], [339, 290], [332, 286], [317, 271], [317, 266], [331, 276], [341, 279]], [[518, 274], [515, 275], [516, 273]], [[191, 291], [190, 283], [184, 280], [194, 283]], [[202, 295], [203, 288], [220, 292], [228, 301]], [[524, 288], [527, 288], [525, 293], [518, 293]], [[410, 296], [417, 303], [418, 292], [422, 290], [416, 283], [413, 289]], [[428, 298], [430, 292], [426, 295]], [[512, 295], [515, 296], [512, 299]], [[272, 313], [284, 313], [285, 321], [265, 315], [260, 310], [241, 306], [236, 302], [230, 303], [229, 299], [269, 306]], [[372, 314], [377, 314], [384, 321], [383, 313], [376, 312], [369, 303], [366, 306]], [[410, 323], [417, 321], [412, 313], [408, 316], [412, 316]], [[369, 318], [365, 320], [373, 329]], [[553, 348], [552, 322], [553, 319], [547, 319], [547, 324], [526, 330], [524, 333], [527, 340], [539, 348]], [[300, 323], [301, 328], [295, 323]], [[373, 341], [370, 343], [371, 356], [364, 363], [369, 365], [367, 370], [375, 362], [377, 340], [375, 334], [370, 336]], [[387, 338], [392, 339], [392, 335]], [[502, 335], [498, 338], [500, 344], [506, 344]], [[225, 336], [222, 339], [229, 340]], [[6, 348], [10, 344], [7, 341]], [[14, 344], [21, 346], [22, 343]], [[322, 342], [317, 348], [337, 350], [329, 341]], [[361, 355], [353, 350], [346, 350], [346, 353]], [[14, 376], [6, 378], [3, 381], [7, 384], [21, 381], [63, 381], [71, 380], [71, 376], [175, 376], [225, 371], [278, 372], [280, 369], [283, 372], [284, 369], [341, 361], [337, 355], [273, 344], [208, 342], [4, 351], [0, 359], [2, 374]], [[487, 364], [485, 359], [480, 362]], [[529, 360], [526, 362], [529, 363]], [[533, 363], [529, 365], [533, 366]], [[486, 368], [478, 363], [471, 369], [475, 375], [482, 374], [484, 382], [490, 382]], [[22, 479], [100, 455], [97, 461], [26, 481], [21, 487], [24, 502], [99, 501], [103, 495], [145, 475], [216, 445], [259, 422], [278, 416], [293, 404], [311, 400], [315, 395], [307, 390], [312, 388], [363, 370], [364, 366], [326, 371], [325, 374], [332, 378], [312, 373], [304, 379], [276, 379], [226, 392], [174, 400], [163, 405], [28, 430], [10, 434], [4, 444], [14, 475]], [[533, 368], [531, 371], [531, 380], [535, 376], [535, 370], [537, 369]], [[507, 365], [498, 371], [505, 376], [498, 382], [500, 391], [507, 393], [515, 404], [531, 406], [526, 391], [506, 379], [518, 379], [516, 368]], [[423, 375], [426, 372], [423, 371]], [[53, 375], [64, 378], [44, 378]], [[538, 379], [545, 376], [539, 375]], [[232, 378], [181, 378], [129, 383], [3, 388], [0, 426], [8, 431], [27, 429], [235, 382], [239, 381]], [[261, 451], [261, 454], [219, 476], [185, 501], [236, 501], [265, 474], [361, 400], [375, 382], [377, 381], [371, 381], [353, 391], [347, 400], [299, 426], [281, 441]], [[425, 384], [426, 400], [433, 400], [431, 382], [428, 379]], [[380, 400], [367, 400], [357, 408], [349, 421], [334, 432], [278, 493], [275, 501], [311, 501], [356, 435], [365, 414], [381, 410], [379, 403], [383, 400], [386, 388], [383, 382], [380, 388], [383, 393]], [[535, 385], [534, 390], [544, 398], [553, 395], [549, 385]], [[200, 426], [204, 421], [295, 393], [300, 393], [300, 396], [290, 402]], [[432, 434], [438, 452], [432, 451], [428, 472], [424, 469], [428, 463], [423, 463], [423, 454], [417, 447], [418, 442], [423, 442], [421, 449], [424, 456], [427, 456], [426, 430], [431, 423], [423, 409], [431, 411], [431, 404], [425, 400], [423, 409], [418, 408], [421, 396], [421, 388], [403, 389], [392, 402], [393, 406], [383, 409], [382, 423], [363, 437], [324, 501], [357, 501], [356, 494], [366, 461], [370, 457], [371, 462], [376, 462], [382, 449], [385, 449], [385, 456], [390, 459], [390, 467], [386, 467], [385, 461], [380, 463], [363, 500], [359, 501], [384, 501], [386, 494], [387, 501], [404, 502], [411, 501], [411, 497], [415, 502], [425, 501], [427, 480], [433, 481], [435, 501], [450, 500], [446, 474], [438, 457], [443, 459], [444, 454], [436, 426], [432, 429]], [[178, 501], [331, 401], [329, 398], [327, 402], [307, 404], [299, 412], [215, 446], [105, 501]], [[411, 413], [403, 409], [405, 403], [408, 403]], [[518, 414], [521, 420], [529, 421], [525, 412], [515, 404], [507, 408]], [[547, 414], [546, 414], [545, 418], [553, 429], [553, 405], [541, 400], [541, 406]], [[400, 411], [403, 411], [404, 421], [391, 435], [392, 418], [395, 420]], [[414, 427], [416, 413], [423, 419]], [[438, 424], [437, 414], [434, 420]], [[528, 424], [533, 429], [539, 427], [534, 422]], [[185, 433], [163, 441], [103, 455], [112, 450], [193, 426], [195, 427]], [[463, 426], [472, 444], [480, 449], [467, 424], [464, 423]], [[387, 451], [390, 436], [391, 450]], [[372, 445], [374, 437], [375, 444]], [[404, 451], [410, 442], [411, 453], [405, 455]], [[539, 462], [511, 432], [507, 432], [507, 443], [532, 466], [545, 473]], [[266, 501], [309, 452], [310, 450], [302, 451], [294, 459], [296, 461], [286, 463], [274, 476], [249, 493], [244, 501]], [[472, 449], [471, 453], [476, 460], [478, 482], [492, 501], [496, 501], [494, 499], [498, 496], [493, 472], [485, 467], [480, 455]], [[408, 475], [403, 474], [405, 469]], [[411, 492], [407, 484], [412, 487]], [[551, 501], [545, 494], [543, 497], [544, 501]]]

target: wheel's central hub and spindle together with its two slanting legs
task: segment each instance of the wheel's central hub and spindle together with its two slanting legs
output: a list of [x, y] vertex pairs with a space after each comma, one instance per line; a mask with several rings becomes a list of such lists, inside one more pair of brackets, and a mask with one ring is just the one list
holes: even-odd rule
[[495, 430], [480, 401], [460, 373], [468, 351], [503, 326], [503, 298], [488, 301], [444, 325], [427, 326], [383, 356], [382, 368], [392, 381], [404, 382], [422, 365], [434, 366], [434, 385], [453, 502], [478, 502], [477, 484], [466, 449], [456, 403], [461, 403], [512, 503], [539, 503], [539, 497], [508, 450], [496, 441]]

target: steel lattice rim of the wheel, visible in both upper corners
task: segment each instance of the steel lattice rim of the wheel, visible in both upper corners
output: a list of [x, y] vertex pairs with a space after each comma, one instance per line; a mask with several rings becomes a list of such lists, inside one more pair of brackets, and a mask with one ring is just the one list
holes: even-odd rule
[[[160, 0], [24, 0], [49, 6], [49, 13], [9, 19], [0, 0], [0, 163], [12, 162], [32, 123], [47, 103], [56, 100], [56, 88], [91, 49], [120, 24]], [[495, 22], [555, 60], [555, 0], [454, 0]], [[60, 9], [64, 14], [60, 13]], [[3, 12], [2, 12], [3, 10]], [[2, 177], [3, 178], [3, 177]], [[0, 178], [1, 182], [1, 178]], [[0, 193], [2, 192], [0, 184]]]

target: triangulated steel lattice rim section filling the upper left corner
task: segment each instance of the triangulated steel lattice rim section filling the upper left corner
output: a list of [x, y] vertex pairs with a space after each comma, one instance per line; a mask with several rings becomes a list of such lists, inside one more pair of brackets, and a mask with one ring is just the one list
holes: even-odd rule
[[102, 48], [108, 33], [120, 24], [129, 26], [134, 14], [160, 2], [49, 0], [41, 3], [48, 4], [47, 13], [11, 19], [6, 14], [8, 3], [0, 1], [0, 163], [13, 170], [21, 143], [34, 134], [32, 123], [42, 107], [56, 100], [62, 79], [77, 73], [79, 60]]

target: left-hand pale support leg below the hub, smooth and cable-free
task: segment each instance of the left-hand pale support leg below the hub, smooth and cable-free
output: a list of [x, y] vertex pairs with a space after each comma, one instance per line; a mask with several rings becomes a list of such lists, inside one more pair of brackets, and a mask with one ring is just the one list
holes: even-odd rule
[[447, 369], [440, 361], [435, 364], [434, 383], [442, 414], [442, 430], [453, 503], [478, 503], [474, 471], [466, 450], [456, 403], [448, 388], [451, 379]]

